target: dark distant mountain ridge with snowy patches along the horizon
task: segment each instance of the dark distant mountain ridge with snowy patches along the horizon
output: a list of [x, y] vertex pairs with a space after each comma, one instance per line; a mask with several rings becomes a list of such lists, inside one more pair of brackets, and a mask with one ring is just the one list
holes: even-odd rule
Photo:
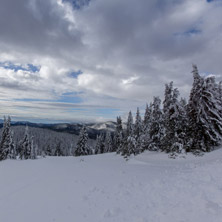
[[[3, 120], [0, 121], [0, 127], [3, 125]], [[50, 129], [56, 132], [66, 132], [70, 134], [79, 135], [79, 132], [83, 126], [81, 123], [55, 123], [55, 124], [44, 124], [44, 123], [32, 123], [28, 121], [18, 121], [11, 123], [12, 126], [29, 126], [43, 129]], [[106, 133], [106, 131], [114, 132], [116, 123], [112, 121], [103, 123], [87, 123], [85, 124], [90, 139], [96, 139], [97, 135]]]

